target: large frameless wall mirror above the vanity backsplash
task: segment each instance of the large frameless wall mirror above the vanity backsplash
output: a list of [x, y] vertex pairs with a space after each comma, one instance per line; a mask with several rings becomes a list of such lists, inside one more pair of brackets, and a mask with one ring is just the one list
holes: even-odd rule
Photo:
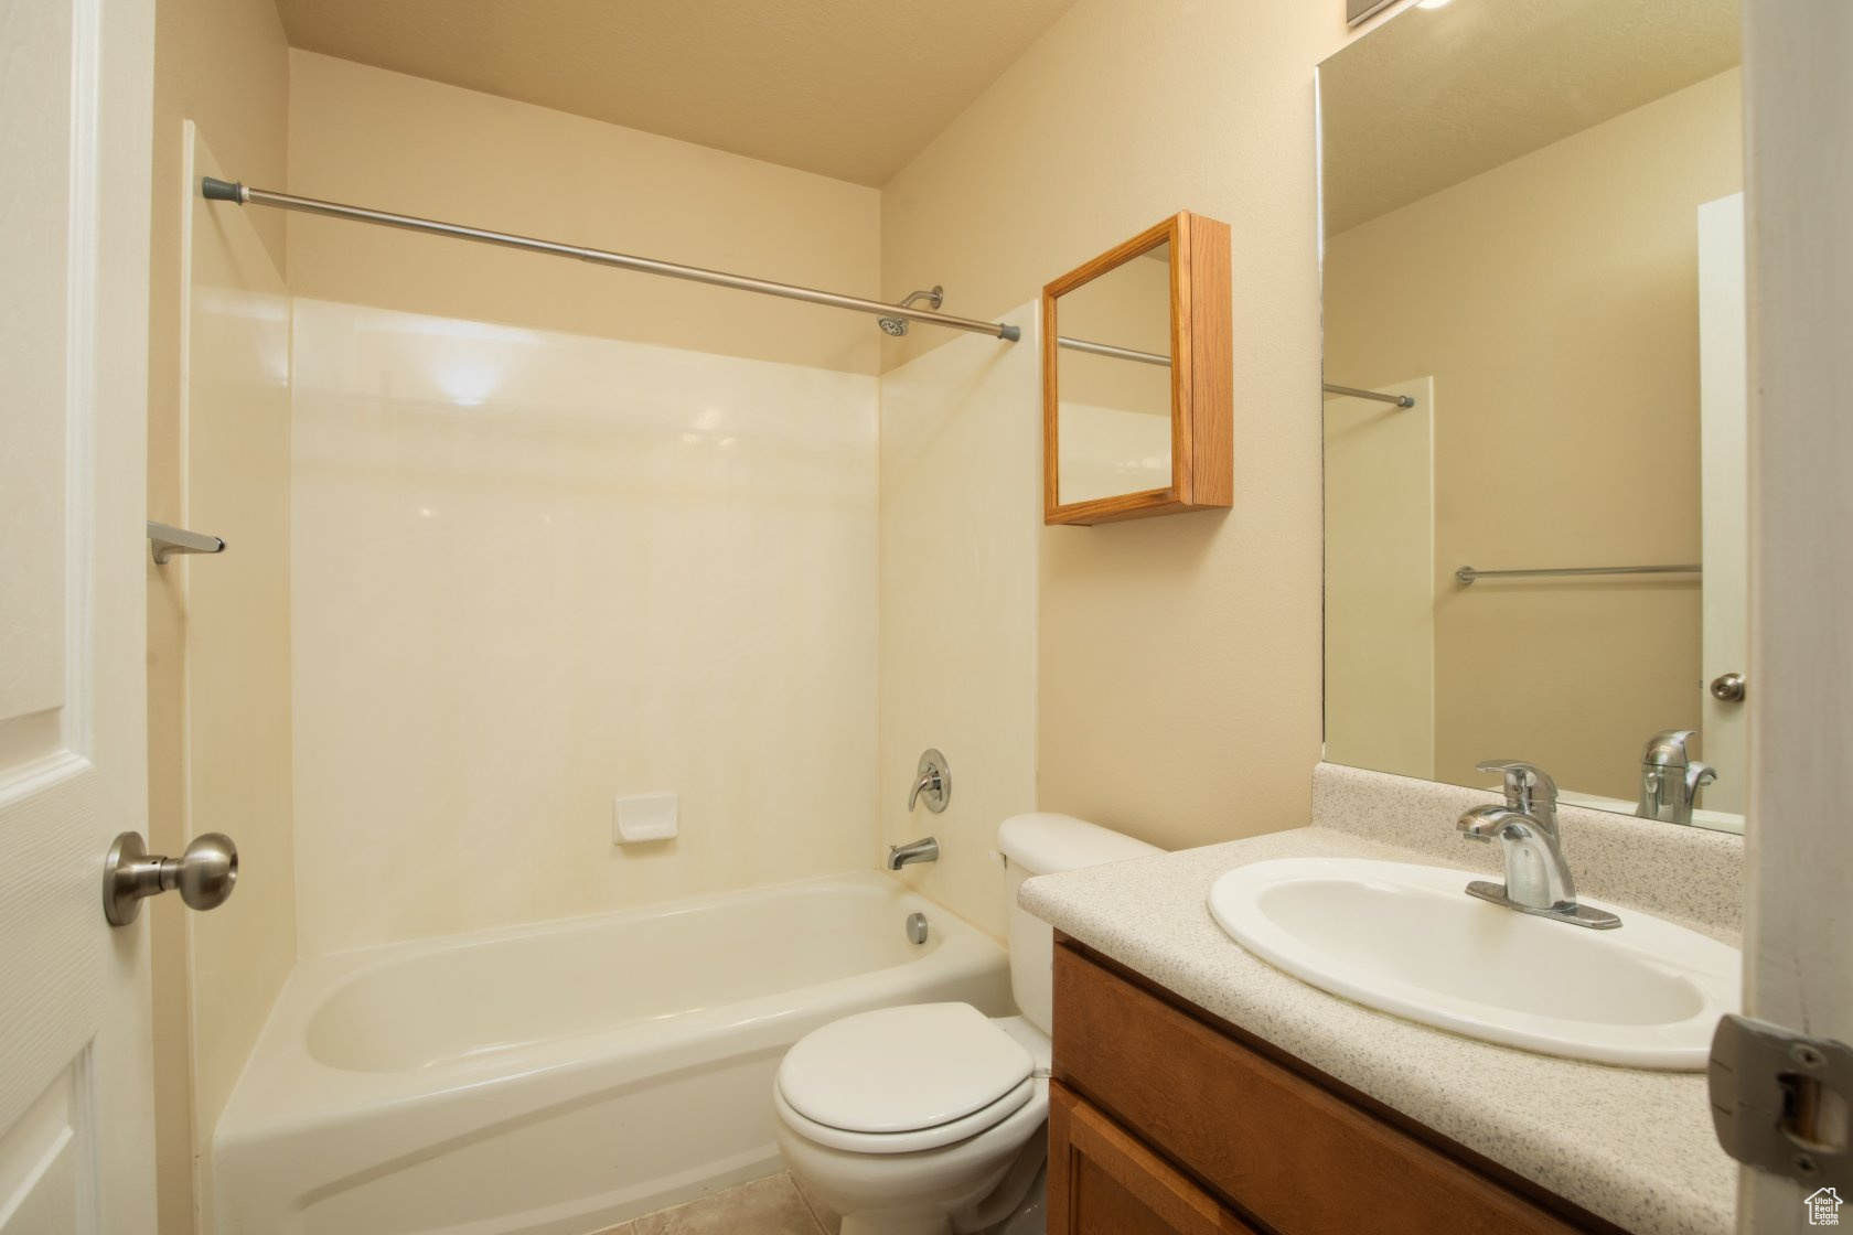
[[1736, 0], [1442, 0], [1319, 67], [1327, 759], [1742, 830], [1738, 59]]

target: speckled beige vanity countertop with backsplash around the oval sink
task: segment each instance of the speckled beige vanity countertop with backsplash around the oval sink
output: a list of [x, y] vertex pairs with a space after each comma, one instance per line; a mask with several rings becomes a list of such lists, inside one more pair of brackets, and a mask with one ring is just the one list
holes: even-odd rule
[[[1312, 828], [1041, 876], [1019, 900], [1191, 1004], [1629, 1231], [1729, 1233], [1736, 1163], [1712, 1135], [1703, 1074], [1536, 1055], [1377, 1013], [1273, 968], [1210, 918], [1217, 876], [1275, 857], [1490, 872], [1492, 846], [1460, 844], [1453, 828], [1481, 800], [1321, 765]], [[1568, 809], [1562, 833], [1586, 894], [1736, 942], [1740, 837]]]

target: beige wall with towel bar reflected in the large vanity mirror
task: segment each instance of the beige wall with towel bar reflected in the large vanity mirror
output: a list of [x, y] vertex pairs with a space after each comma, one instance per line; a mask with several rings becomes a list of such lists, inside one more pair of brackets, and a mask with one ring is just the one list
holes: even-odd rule
[[1733, 70], [1327, 246], [1332, 380], [1436, 383], [1438, 780], [1632, 798], [1647, 737], [1699, 728], [1695, 580], [1449, 576], [1699, 559], [1697, 206], [1742, 187], [1738, 117]]

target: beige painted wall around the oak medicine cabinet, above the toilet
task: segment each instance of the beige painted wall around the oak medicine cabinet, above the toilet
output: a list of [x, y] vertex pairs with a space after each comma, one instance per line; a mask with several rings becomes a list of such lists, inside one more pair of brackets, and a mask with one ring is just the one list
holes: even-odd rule
[[[1080, 0], [882, 191], [888, 296], [938, 281], [947, 311], [975, 317], [1179, 209], [1232, 226], [1234, 509], [1040, 533], [1043, 809], [1166, 846], [1306, 820], [1319, 757], [1312, 70], [1343, 41], [1336, 2]], [[917, 330], [886, 359], [938, 335]]]

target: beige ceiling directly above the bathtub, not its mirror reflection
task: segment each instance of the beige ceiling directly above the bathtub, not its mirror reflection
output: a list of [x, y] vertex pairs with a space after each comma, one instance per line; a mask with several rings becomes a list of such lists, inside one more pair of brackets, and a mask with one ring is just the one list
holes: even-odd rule
[[884, 185], [1075, 0], [276, 0], [291, 46]]

